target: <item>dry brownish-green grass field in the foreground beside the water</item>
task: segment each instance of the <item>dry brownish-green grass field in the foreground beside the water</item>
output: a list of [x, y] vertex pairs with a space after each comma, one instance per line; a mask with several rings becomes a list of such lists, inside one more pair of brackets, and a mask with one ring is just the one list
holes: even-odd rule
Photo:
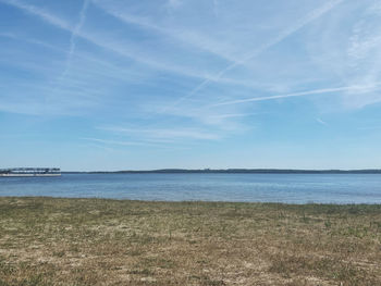
[[0, 285], [381, 285], [381, 206], [0, 198]]

